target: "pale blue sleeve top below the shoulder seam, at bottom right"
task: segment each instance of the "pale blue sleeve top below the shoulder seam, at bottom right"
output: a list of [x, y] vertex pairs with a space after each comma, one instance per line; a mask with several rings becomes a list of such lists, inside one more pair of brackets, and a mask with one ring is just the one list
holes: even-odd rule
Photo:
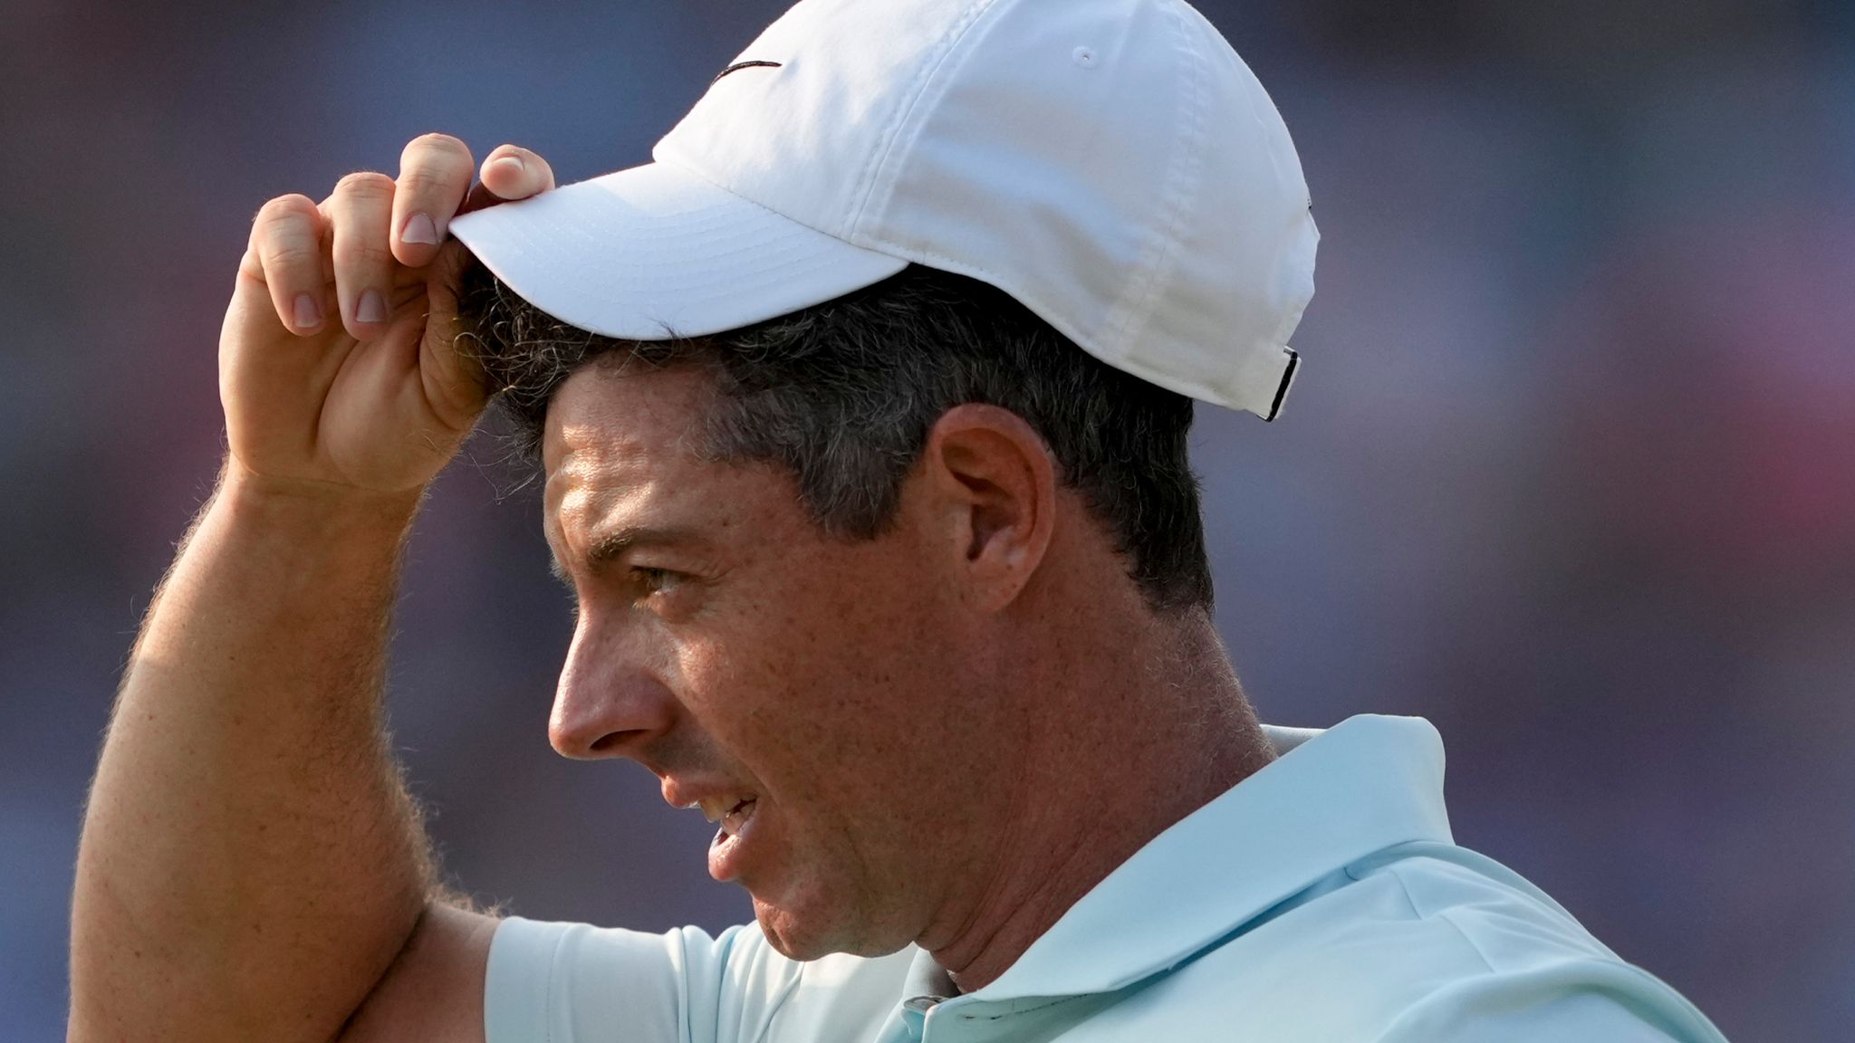
[[1430, 993], [1378, 1043], [1725, 1043], [1707, 1017], [1636, 967], [1575, 959]]

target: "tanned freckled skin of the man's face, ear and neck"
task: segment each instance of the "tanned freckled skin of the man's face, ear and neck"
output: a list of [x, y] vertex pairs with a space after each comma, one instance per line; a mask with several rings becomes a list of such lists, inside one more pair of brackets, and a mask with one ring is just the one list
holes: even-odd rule
[[[696, 453], [710, 393], [595, 364], [551, 401], [579, 625], [549, 737], [640, 761], [673, 804], [753, 794], [738, 882], [777, 950], [918, 943], [979, 987], [1267, 763], [1208, 616], [1146, 609], [1022, 419], [950, 410], [894, 525], [840, 540], [783, 470]], [[592, 560], [625, 527], [683, 536]]]

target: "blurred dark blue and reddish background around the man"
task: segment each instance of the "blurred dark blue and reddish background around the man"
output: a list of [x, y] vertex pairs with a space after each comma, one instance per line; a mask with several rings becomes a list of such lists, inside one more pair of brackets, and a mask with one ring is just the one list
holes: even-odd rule
[[[872, 0], [874, 2], [874, 0]], [[249, 221], [447, 130], [647, 160], [781, 0], [0, 0], [0, 1037], [65, 1021], [111, 690], [221, 455]], [[1286, 416], [1200, 410], [1265, 720], [1434, 720], [1456, 837], [1729, 1037], [1855, 1024], [1855, 4], [1206, 0], [1324, 234]], [[720, 928], [709, 830], [544, 735], [568, 603], [493, 438], [412, 549], [447, 869]]]

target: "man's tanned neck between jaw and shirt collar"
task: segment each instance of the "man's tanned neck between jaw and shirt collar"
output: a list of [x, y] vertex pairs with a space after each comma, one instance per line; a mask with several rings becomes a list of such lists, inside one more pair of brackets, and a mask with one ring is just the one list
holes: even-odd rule
[[1017, 690], [1033, 696], [1020, 707], [1013, 800], [989, 824], [991, 863], [920, 939], [963, 993], [1004, 974], [1146, 841], [1273, 759], [1208, 614], [1135, 618], [1068, 616], [1052, 655], [1018, 670]]

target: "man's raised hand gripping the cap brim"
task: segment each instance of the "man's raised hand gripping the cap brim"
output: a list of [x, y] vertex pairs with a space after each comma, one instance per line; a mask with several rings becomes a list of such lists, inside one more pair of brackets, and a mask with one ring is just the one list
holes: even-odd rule
[[547, 161], [503, 145], [471, 191], [471, 152], [427, 134], [399, 180], [356, 173], [321, 204], [263, 204], [219, 334], [228, 481], [317, 496], [423, 488], [482, 412], [458, 353], [451, 217], [555, 186]]

